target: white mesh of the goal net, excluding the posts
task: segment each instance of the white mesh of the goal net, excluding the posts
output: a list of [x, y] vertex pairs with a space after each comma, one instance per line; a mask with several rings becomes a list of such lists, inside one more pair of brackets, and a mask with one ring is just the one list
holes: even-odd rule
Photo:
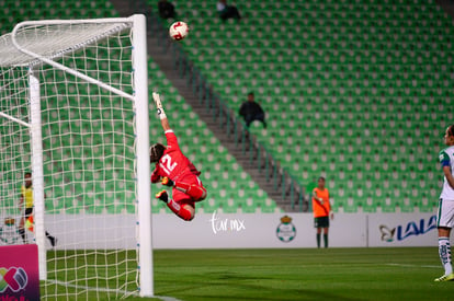
[[[124, 23], [26, 26], [18, 44], [133, 94], [132, 33]], [[11, 36], [3, 36], [0, 57], [11, 49]], [[25, 123], [26, 66], [39, 80], [45, 230], [57, 239], [56, 247], [46, 242], [42, 298], [104, 300], [136, 291], [134, 103], [23, 54], [9, 54], [0, 65], [1, 112]], [[2, 220], [20, 219], [20, 186], [31, 170], [29, 129], [11, 118], [0, 123]]]

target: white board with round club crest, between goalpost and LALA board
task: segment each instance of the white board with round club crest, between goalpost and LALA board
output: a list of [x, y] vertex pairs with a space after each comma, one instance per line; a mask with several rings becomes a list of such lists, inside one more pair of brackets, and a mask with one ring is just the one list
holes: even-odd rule
[[[156, 248], [317, 246], [311, 213], [225, 215], [215, 212], [197, 215], [191, 222], [184, 222], [172, 216], [158, 215], [154, 216], [154, 224]], [[364, 224], [365, 216], [339, 215], [334, 217], [329, 234], [330, 246], [365, 246]], [[162, 231], [162, 228], [166, 230]]]

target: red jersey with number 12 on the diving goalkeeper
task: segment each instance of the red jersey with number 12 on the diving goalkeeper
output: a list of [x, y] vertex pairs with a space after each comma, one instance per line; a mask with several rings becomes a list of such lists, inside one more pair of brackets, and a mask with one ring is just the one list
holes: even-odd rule
[[200, 175], [201, 172], [195, 169], [194, 164], [181, 152], [178, 144], [177, 136], [173, 130], [166, 131], [167, 149], [161, 159], [156, 164], [156, 169], [151, 174], [151, 182], [156, 183], [162, 176], [167, 176], [172, 181], [184, 177], [189, 174]]

